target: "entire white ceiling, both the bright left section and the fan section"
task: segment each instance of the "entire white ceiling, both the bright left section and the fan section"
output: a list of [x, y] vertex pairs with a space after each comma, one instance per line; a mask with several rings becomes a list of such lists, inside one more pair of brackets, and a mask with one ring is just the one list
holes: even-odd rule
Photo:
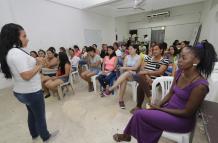
[[118, 9], [133, 7], [134, 0], [48, 0], [50, 2], [94, 12], [100, 15], [119, 17], [153, 10], [166, 9], [207, 0], [145, 0], [139, 9]]

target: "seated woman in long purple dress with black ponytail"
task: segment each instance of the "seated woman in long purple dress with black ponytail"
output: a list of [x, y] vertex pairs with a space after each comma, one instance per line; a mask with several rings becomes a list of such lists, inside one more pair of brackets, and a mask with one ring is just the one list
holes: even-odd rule
[[117, 142], [157, 143], [163, 131], [187, 133], [195, 126], [195, 114], [207, 95], [208, 78], [213, 71], [217, 54], [207, 41], [196, 47], [185, 47], [178, 61], [169, 93], [158, 105], [138, 110], [129, 121], [123, 134], [115, 134]]

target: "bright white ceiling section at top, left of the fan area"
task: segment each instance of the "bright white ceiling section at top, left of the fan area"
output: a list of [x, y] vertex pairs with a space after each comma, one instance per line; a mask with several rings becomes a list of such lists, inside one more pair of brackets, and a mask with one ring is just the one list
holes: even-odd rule
[[111, 0], [49, 0], [49, 1], [71, 6], [74, 8], [84, 9], [95, 5], [103, 4]]

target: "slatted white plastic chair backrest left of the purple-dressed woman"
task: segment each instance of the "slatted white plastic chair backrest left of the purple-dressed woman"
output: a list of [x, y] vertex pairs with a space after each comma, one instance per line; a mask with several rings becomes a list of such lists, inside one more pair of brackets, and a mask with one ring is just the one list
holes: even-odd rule
[[171, 76], [162, 76], [162, 77], [158, 77], [156, 78], [153, 83], [152, 83], [152, 103], [154, 104], [155, 101], [157, 100], [157, 91], [156, 91], [156, 87], [158, 84], [160, 84], [161, 86], [161, 99], [164, 98], [164, 96], [166, 96], [166, 94], [169, 92], [170, 87], [173, 83], [173, 77]]

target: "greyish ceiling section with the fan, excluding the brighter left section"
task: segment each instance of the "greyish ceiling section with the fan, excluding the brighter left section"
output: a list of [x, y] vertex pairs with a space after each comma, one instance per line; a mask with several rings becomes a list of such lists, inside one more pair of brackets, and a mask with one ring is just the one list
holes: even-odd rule
[[117, 9], [120, 7], [131, 7], [134, 5], [134, 0], [115, 0], [108, 1], [107, 3], [86, 8], [86, 10], [98, 13], [105, 16], [119, 17], [125, 15], [132, 15], [136, 13], [148, 12], [153, 10], [166, 9], [181, 5], [187, 5], [207, 0], [146, 0], [139, 9]]

